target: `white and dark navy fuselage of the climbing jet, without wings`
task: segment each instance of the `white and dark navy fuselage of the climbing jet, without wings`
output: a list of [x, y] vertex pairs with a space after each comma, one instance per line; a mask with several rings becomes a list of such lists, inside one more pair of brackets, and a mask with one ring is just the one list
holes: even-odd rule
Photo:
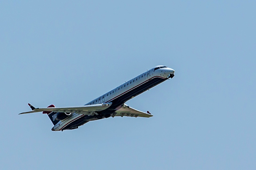
[[[110, 90], [106, 94], [90, 101], [86, 105], [94, 105], [100, 103], [109, 103], [112, 102], [111, 108], [106, 110], [105, 112], [96, 113], [96, 115], [102, 115], [102, 118], [105, 118], [105, 115], [111, 114], [114, 110], [117, 110], [120, 105], [123, 105], [124, 102], [128, 101], [129, 99], [143, 93], [144, 91], [162, 83], [163, 81], [167, 80], [171, 75], [174, 75], [174, 70], [167, 68], [165, 66], [156, 66], [147, 72], [136, 76], [132, 80], [129, 80], [120, 86]], [[85, 115], [73, 113], [71, 116], [68, 116], [66, 119], [59, 121], [53, 129], [57, 130], [64, 130], [70, 129], [72, 127], [78, 127], [87, 123], [91, 120], [97, 120], [98, 118], [95, 116], [88, 117], [87, 119], [84, 118]], [[105, 116], [105, 117], [104, 117]]]

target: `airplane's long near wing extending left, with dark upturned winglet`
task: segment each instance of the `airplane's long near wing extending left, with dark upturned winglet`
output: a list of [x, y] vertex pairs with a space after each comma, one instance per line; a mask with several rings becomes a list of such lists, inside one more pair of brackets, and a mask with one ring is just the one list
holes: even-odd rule
[[[30, 104], [29, 104], [30, 105]], [[96, 104], [96, 105], [83, 105], [83, 106], [74, 106], [74, 107], [65, 107], [65, 108], [34, 108], [30, 112], [22, 112], [20, 114], [26, 113], [35, 113], [35, 112], [66, 112], [66, 113], [78, 113], [83, 115], [89, 115], [90, 112], [99, 112], [109, 108], [112, 103], [103, 103], [103, 104]], [[31, 106], [30, 106], [31, 107]]]

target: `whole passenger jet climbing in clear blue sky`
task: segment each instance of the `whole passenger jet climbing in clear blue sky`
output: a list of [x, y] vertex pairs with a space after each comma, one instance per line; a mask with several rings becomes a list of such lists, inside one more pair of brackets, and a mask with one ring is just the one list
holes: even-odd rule
[[141, 112], [124, 103], [173, 76], [173, 69], [158, 65], [83, 106], [56, 108], [54, 105], [49, 105], [47, 108], [35, 108], [28, 104], [32, 111], [22, 112], [19, 115], [43, 112], [52, 121], [53, 131], [77, 129], [89, 121], [110, 116], [151, 117], [153, 115], [149, 111]]

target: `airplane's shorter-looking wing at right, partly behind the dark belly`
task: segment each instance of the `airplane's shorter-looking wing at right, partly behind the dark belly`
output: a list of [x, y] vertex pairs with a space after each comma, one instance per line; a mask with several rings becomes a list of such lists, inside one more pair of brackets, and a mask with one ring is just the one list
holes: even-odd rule
[[148, 111], [147, 111], [147, 113], [141, 112], [139, 110], [131, 108], [128, 105], [124, 105], [123, 107], [118, 109], [114, 114], [115, 114], [114, 116], [121, 116], [121, 117], [123, 117], [123, 116], [130, 116], [130, 117], [151, 117], [151, 116], [153, 116]]

